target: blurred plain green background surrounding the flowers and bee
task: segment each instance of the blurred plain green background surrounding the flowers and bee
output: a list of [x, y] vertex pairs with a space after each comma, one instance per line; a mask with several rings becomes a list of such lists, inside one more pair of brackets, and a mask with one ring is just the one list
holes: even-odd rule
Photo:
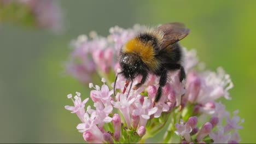
[[[245, 118], [242, 143], [255, 143], [256, 1], [58, 1], [63, 32], [33, 29], [16, 23], [0, 27], [0, 142], [81, 143], [79, 119], [64, 109], [66, 95], [89, 96], [88, 86], [64, 75], [69, 42], [95, 30], [135, 23], [184, 22], [191, 32], [181, 44], [196, 49], [206, 68], [222, 66], [235, 87], [226, 109]], [[161, 134], [159, 134], [161, 136]], [[160, 137], [161, 138], [161, 137]], [[154, 141], [154, 140], [153, 140]]]

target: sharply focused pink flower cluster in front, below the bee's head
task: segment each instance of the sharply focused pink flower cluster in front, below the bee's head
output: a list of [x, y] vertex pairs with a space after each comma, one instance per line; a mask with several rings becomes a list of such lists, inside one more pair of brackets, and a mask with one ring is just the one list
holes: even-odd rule
[[[147, 121], [158, 111], [157, 107], [138, 92], [133, 92], [129, 97], [118, 93], [114, 100], [111, 97], [113, 90], [109, 91], [105, 79], [102, 78], [102, 82], [101, 87], [89, 84], [90, 88], [94, 88], [90, 97], [94, 101], [95, 109], [88, 106], [86, 111], [84, 110], [88, 98], [82, 102], [80, 93], [77, 92], [75, 100], [72, 99], [71, 94], [67, 95], [72, 99], [74, 106], [65, 106], [65, 108], [76, 113], [82, 122], [77, 125], [77, 129], [83, 133], [84, 140], [91, 143], [137, 142], [146, 134]], [[125, 133], [127, 137], [122, 137]]]

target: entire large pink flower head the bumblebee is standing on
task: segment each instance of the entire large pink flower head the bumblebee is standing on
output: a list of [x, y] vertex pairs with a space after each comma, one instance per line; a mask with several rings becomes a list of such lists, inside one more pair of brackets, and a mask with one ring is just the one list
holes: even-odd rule
[[[163, 138], [166, 143], [238, 143], [238, 130], [242, 129], [244, 119], [237, 116], [238, 111], [231, 116], [225, 105], [217, 102], [221, 97], [231, 99], [228, 92], [233, 87], [230, 76], [222, 68], [217, 72], [202, 68], [195, 50], [183, 48], [187, 79], [181, 83], [179, 71], [170, 71], [158, 103], [154, 103], [159, 87], [159, 77], [155, 75], [149, 75], [145, 84], [137, 90], [131, 89], [129, 95], [126, 91], [114, 97], [110, 87], [120, 69], [120, 47], [144, 28], [114, 27], [110, 28], [107, 38], [92, 32], [91, 40], [81, 35], [72, 42], [74, 49], [67, 65], [69, 74], [83, 83], [92, 81], [90, 77], [95, 71], [106, 78], [102, 78], [101, 87], [89, 83], [89, 87], [94, 88], [90, 98], [95, 108], [88, 106], [85, 110], [88, 98], [82, 102], [80, 93], [72, 99], [74, 106], [65, 106], [80, 118], [82, 123], [77, 129], [83, 133], [84, 140], [136, 143], [154, 136], [165, 124], [170, 124]], [[137, 76], [133, 83], [141, 79]], [[123, 91], [125, 81], [124, 77], [118, 77], [117, 91]], [[69, 94], [68, 98], [71, 97]], [[174, 135], [179, 139], [173, 140]]]

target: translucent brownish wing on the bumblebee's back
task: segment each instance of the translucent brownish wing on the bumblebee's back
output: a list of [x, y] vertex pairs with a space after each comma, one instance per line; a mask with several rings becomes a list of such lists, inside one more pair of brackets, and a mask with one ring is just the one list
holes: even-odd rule
[[179, 22], [165, 23], [157, 29], [158, 31], [164, 32], [164, 38], [162, 39], [160, 46], [161, 48], [174, 44], [189, 34], [189, 29], [186, 28], [183, 23]]

